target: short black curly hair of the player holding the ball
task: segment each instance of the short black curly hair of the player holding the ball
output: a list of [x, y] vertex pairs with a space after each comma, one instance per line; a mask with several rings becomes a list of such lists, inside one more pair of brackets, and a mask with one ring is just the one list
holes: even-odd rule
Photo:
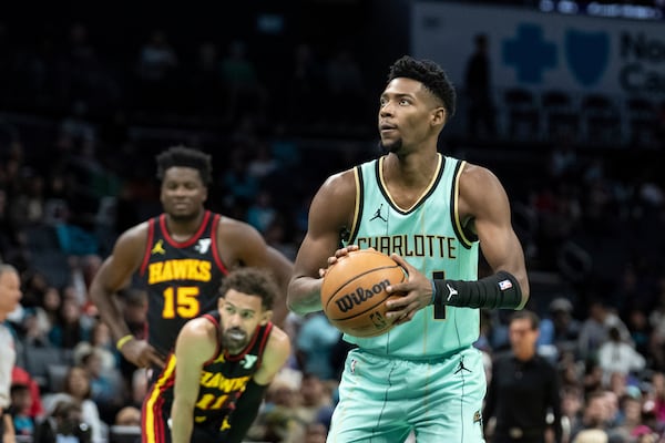
[[446, 120], [454, 114], [457, 94], [448, 74], [431, 60], [417, 60], [410, 55], [398, 59], [390, 66], [388, 82], [398, 78], [416, 80], [437, 96], [446, 109]]

